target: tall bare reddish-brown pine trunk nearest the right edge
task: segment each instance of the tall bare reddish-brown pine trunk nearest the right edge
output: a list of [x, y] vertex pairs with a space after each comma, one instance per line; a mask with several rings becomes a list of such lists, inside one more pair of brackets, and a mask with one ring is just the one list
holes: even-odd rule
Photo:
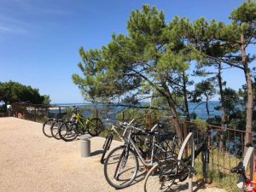
[[241, 34], [241, 62], [244, 68], [244, 74], [247, 81], [247, 125], [246, 125], [246, 143], [253, 143], [253, 87], [250, 75], [250, 68], [248, 67], [247, 55], [245, 49], [244, 36]]

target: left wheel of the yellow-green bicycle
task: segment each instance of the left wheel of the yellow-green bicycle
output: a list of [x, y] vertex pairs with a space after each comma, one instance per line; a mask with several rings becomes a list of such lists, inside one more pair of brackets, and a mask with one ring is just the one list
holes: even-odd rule
[[58, 130], [59, 136], [65, 142], [71, 142], [76, 137], [78, 137], [78, 125], [72, 121], [66, 121], [61, 124], [60, 129]]

